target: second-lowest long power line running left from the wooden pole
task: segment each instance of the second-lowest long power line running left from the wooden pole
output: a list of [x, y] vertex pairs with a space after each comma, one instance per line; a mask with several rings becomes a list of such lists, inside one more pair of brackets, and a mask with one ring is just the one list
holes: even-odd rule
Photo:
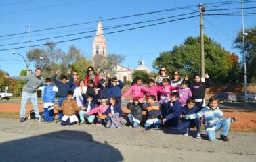
[[[122, 24], [119, 26], [114, 26], [114, 27], [110, 27], [110, 28], [104, 28], [104, 30], [109, 30], [109, 29], [114, 29], [114, 28], [121, 28], [124, 26], [131, 26], [131, 25], [135, 25], [135, 24], [143, 24], [143, 23], [147, 23], [147, 22], [154, 22], [154, 21], [159, 21], [159, 20], [165, 20], [168, 18], [175, 18], [175, 17], [179, 17], [179, 16], [186, 16], [186, 15], [191, 15], [191, 14], [195, 14], [198, 11], [194, 11], [194, 12], [190, 12], [190, 13], [186, 13], [186, 14], [179, 14], [179, 15], [175, 15], [175, 16], [168, 16], [165, 18], [158, 18], [158, 19], [153, 19], [153, 20], [147, 20], [147, 21], [143, 21], [143, 22], [135, 22], [135, 23], [130, 23], [130, 24]], [[102, 29], [103, 30], [103, 29]], [[33, 40], [30, 42], [37, 42], [37, 41], [45, 41], [45, 40], [49, 40], [49, 39], [53, 39], [53, 38], [62, 38], [62, 37], [66, 37], [66, 36], [74, 36], [74, 35], [78, 35], [78, 34], [85, 34], [85, 33], [89, 33], [89, 32], [96, 32], [96, 30], [90, 30], [87, 32], [79, 32], [79, 33], [74, 33], [74, 34], [66, 34], [66, 35], [62, 35], [62, 36], [54, 36], [51, 38], [41, 38], [41, 39], [37, 39], [37, 40]], [[19, 43], [9, 43], [9, 44], [4, 44], [4, 45], [0, 45], [0, 46], [7, 46], [7, 45], [18, 45], [18, 44], [22, 44], [22, 43], [27, 43], [27, 41], [23, 41], [23, 42], [19, 42]]]

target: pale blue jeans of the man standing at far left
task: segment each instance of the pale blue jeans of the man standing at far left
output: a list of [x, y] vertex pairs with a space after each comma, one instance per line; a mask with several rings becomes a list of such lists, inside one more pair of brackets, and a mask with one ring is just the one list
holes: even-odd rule
[[33, 105], [35, 117], [40, 118], [41, 116], [39, 114], [38, 105], [37, 105], [37, 93], [27, 93], [27, 92], [22, 92], [20, 118], [25, 117], [26, 115], [26, 103], [28, 102], [28, 99], [30, 99]]

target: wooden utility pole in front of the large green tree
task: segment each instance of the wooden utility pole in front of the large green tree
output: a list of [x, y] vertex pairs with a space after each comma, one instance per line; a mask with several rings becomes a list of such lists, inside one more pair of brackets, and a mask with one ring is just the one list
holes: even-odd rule
[[205, 7], [202, 3], [199, 4], [200, 9], [200, 52], [201, 52], [201, 81], [205, 82], [205, 46], [204, 46], [204, 25], [203, 25], [203, 13]]

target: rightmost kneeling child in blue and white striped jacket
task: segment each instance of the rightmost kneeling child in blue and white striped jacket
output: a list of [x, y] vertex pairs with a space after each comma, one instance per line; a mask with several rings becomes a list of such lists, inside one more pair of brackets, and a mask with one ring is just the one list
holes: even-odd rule
[[198, 113], [190, 115], [182, 115], [185, 119], [199, 119], [203, 116], [205, 131], [209, 140], [216, 140], [215, 132], [223, 128], [221, 132], [221, 140], [228, 141], [228, 130], [230, 129], [230, 123], [236, 121], [237, 117], [230, 117], [225, 119], [223, 112], [218, 107], [219, 99], [217, 97], [211, 97], [207, 107], [204, 107]]

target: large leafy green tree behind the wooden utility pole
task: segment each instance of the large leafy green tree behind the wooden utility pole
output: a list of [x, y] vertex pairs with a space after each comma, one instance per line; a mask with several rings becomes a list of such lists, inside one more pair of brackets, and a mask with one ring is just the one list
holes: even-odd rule
[[[230, 52], [221, 47], [219, 43], [205, 36], [205, 72], [211, 74], [214, 82], [224, 82], [228, 77], [228, 70], [232, 63], [228, 60]], [[155, 70], [165, 66], [171, 74], [179, 70], [184, 76], [192, 77], [200, 74], [200, 37], [188, 37], [182, 45], [174, 46], [171, 51], [160, 53], [153, 63]]]

